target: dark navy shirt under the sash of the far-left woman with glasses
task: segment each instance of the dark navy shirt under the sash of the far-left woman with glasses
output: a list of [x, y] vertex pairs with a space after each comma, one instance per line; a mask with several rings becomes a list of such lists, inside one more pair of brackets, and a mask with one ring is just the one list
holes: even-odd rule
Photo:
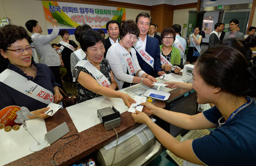
[[[23, 75], [28, 80], [35, 82], [39, 86], [48, 89], [54, 94], [53, 87], [59, 87], [59, 85], [55, 82], [50, 68], [45, 64], [35, 64], [34, 60], [32, 60], [32, 64], [37, 68], [37, 73], [34, 79], [32, 76], [27, 76], [27, 74], [13, 64], [9, 64], [8, 69]], [[7, 106], [19, 106], [27, 107], [29, 111], [35, 111], [48, 106], [46, 103], [40, 102], [23, 93], [20, 93], [3, 82], [0, 82], [0, 98], [0, 110]]]

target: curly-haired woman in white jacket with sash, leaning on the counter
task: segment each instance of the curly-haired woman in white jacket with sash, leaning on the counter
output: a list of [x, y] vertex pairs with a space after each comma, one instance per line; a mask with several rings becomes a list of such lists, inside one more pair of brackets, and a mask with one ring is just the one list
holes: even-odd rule
[[134, 20], [126, 20], [120, 27], [120, 42], [113, 44], [106, 54], [120, 89], [131, 86], [131, 83], [140, 82], [153, 87], [153, 82], [156, 82], [156, 78], [141, 70], [136, 51], [132, 48], [139, 32]]

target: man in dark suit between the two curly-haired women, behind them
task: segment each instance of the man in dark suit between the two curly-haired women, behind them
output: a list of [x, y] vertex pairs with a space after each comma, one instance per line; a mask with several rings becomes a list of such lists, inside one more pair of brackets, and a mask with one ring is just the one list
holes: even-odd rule
[[110, 20], [106, 23], [106, 31], [109, 34], [109, 37], [105, 39], [105, 53], [104, 58], [106, 57], [106, 52], [108, 52], [109, 48], [114, 44], [119, 42], [119, 23], [117, 20]]

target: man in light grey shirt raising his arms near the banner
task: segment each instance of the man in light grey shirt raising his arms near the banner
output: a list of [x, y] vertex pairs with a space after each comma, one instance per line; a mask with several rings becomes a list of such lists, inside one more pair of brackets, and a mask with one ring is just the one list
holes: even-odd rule
[[53, 49], [50, 44], [50, 41], [54, 40], [59, 33], [56, 19], [52, 20], [52, 25], [52, 33], [49, 35], [42, 35], [42, 29], [36, 20], [31, 19], [26, 23], [28, 31], [32, 33], [31, 37], [33, 38], [33, 45], [37, 54], [40, 56], [40, 62], [46, 64], [51, 69], [55, 81], [60, 85], [60, 88], [64, 90], [59, 73], [60, 58], [56, 50]]

